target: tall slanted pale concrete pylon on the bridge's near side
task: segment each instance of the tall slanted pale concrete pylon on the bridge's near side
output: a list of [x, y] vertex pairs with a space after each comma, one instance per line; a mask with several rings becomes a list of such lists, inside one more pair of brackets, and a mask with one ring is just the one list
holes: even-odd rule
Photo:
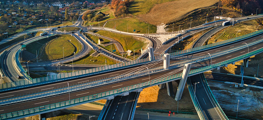
[[182, 98], [183, 88], [185, 86], [185, 83], [186, 83], [186, 80], [187, 80], [187, 77], [188, 77], [191, 65], [192, 64], [185, 64], [185, 68], [183, 69], [182, 78], [180, 80], [180, 83], [178, 85], [177, 92], [176, 92], [176, 95], [175, 95], [175, 98], [174, 98], [176, 101], [179, 101]]

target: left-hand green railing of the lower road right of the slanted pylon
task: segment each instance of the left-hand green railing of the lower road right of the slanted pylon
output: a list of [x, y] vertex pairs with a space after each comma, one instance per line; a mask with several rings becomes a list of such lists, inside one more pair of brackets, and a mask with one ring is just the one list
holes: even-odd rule
[[191, 99], [193, 101], [193, 105], [194, 105], [194, 107], [196, 109], [196, 112], [197, 112], [199, 118], [201, 120], [206, 120], [206, 118], [204, 116], [204, 113], [203, 113], [203, 111], [202, 111], [197, 99], [194, 98], [195, 95], [194, 95], [193, 87], [192, 87], [192, 84], [190, 83], [190, 80], [187, 80], [187, 88], [189, 90], [189, 94], [191, 96]]

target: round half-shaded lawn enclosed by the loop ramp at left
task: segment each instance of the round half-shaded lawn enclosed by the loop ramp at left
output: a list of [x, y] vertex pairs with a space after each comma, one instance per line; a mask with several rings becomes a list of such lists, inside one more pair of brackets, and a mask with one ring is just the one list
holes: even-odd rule
[[[69, 40], [71, 41], [69, 42]], [[55, 35], [32, 42], [26, 46], [26, 49], [33, 54], [38, 51], [38, 61], [45, 61], [63, 58], [63, 47], [64, 57], [72, 56], [74, 54], [73, 52], [79, 52], [78, 46], [79, 42], [71, 35]], [[82, 49], [81, 45], [80, 49]], [[33, 61], [35, 61], [35, 59]]]

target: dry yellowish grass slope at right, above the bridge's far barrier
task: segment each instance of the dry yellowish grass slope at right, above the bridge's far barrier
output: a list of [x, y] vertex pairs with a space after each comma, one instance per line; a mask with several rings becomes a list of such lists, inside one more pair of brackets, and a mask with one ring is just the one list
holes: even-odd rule
[[[256, 20], [248, 20], [245, 22], [240, 22], [235, 24], [234, 26], [229, 26], [221, 31], [217, 32], [215, 35], [211, 36], [212, 38], [209, 39], [208, 44], [212, 44], [220, 41], [225, 41], [231, 38], [235, 38], [236, 36], [246, 35], [252, 32], [263, 29], [263, 26], [258, 26]], [[239, 32], [238, 32], [239, 31]]]

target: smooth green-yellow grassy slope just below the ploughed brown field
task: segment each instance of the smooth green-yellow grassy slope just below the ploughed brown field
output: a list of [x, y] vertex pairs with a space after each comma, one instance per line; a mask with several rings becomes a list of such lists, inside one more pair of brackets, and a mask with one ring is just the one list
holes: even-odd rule
[[106, 23], [105, 27], [115, 29], [115, 25], [117, 30], [123, 32], [127, 32], [128, 27], [128, 32], [130, 33], [133, 33], [134, 29], [136, 30], [135, 33], [146, 33], [146, 31], [148, 33], [148, 30], [150, 31], [149, 33], [156, 33], [157, 30], [156, 26], [147, 24], [143, 21], [134, 18], [111, 20]]

